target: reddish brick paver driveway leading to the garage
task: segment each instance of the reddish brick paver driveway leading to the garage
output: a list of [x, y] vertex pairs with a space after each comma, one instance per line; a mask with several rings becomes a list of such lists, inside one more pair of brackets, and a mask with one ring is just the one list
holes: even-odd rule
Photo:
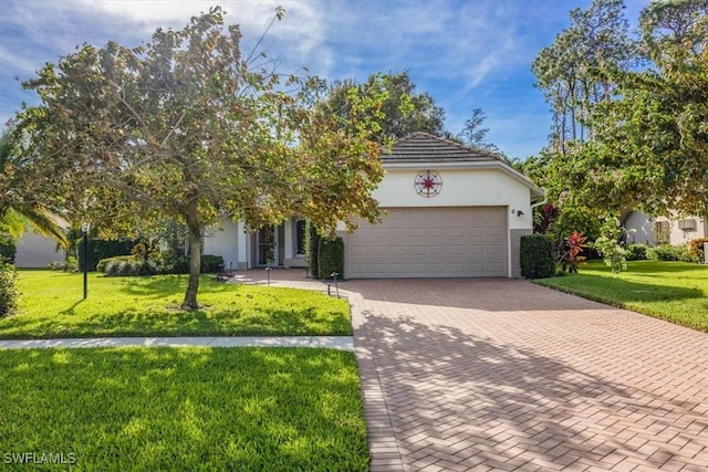
[[342, 287], [374, 471], [708, 470], [708, 334], [518, 280]]

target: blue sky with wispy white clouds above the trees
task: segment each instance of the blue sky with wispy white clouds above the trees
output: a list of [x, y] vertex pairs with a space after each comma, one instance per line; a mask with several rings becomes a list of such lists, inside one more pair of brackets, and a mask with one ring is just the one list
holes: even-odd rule
[[[407, 71], [416, 92], [446, 111], [457, 134], [475, 108], [487, 114], [487, 140], [507, 156], [538, 155], [551, 113], [533, 86], [531, 63], [570, 25], [569, 11], [591, 0], [0, 0], [0, 123], [21, 104], [39, 103], [20, 81], [77, 45], [148, 42], [156, 28], [184, 28], [192, 15], [221, 6], [240, 24], [243, 45], [258, 41], [275, 8], [285, 17], [261, 43], [283, 62], [334, 80], [365, 81], [376, 72]], [[635, 24], [648, 0], [625, 0]]]

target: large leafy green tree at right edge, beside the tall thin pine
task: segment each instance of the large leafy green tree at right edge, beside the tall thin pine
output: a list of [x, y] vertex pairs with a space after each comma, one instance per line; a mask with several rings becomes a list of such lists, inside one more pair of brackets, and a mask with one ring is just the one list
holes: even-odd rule
[[608, 208], [708, 214], [708, 1], [642, 12], [642, 71], [610, 69], [613, 99], [593, 108], [586, 193]]

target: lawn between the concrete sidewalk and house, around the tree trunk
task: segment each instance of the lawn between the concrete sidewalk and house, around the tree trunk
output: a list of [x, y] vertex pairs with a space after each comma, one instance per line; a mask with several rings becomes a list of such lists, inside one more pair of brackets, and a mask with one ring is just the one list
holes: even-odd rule
[[184, 312], [179, 305], [186, 285], [186, 275], [92, 273], [83, 301], [82, 274], [20, 271], [19, 313], [0, 318], [0, 338], [352, 334], [345, 300], [204, 276], [198, 297], [204, 308]]

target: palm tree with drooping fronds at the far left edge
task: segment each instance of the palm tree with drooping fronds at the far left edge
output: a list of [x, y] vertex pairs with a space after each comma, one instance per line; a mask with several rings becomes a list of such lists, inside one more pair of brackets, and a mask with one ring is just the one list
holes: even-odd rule
[[32, 195], [24, 170], [22, 159], [13, 153], [12, 133], [8, 128], [0, 136], [0, 231], [18, 239], [29, 222], [39, 234], [69, 247], [56, 217]]

